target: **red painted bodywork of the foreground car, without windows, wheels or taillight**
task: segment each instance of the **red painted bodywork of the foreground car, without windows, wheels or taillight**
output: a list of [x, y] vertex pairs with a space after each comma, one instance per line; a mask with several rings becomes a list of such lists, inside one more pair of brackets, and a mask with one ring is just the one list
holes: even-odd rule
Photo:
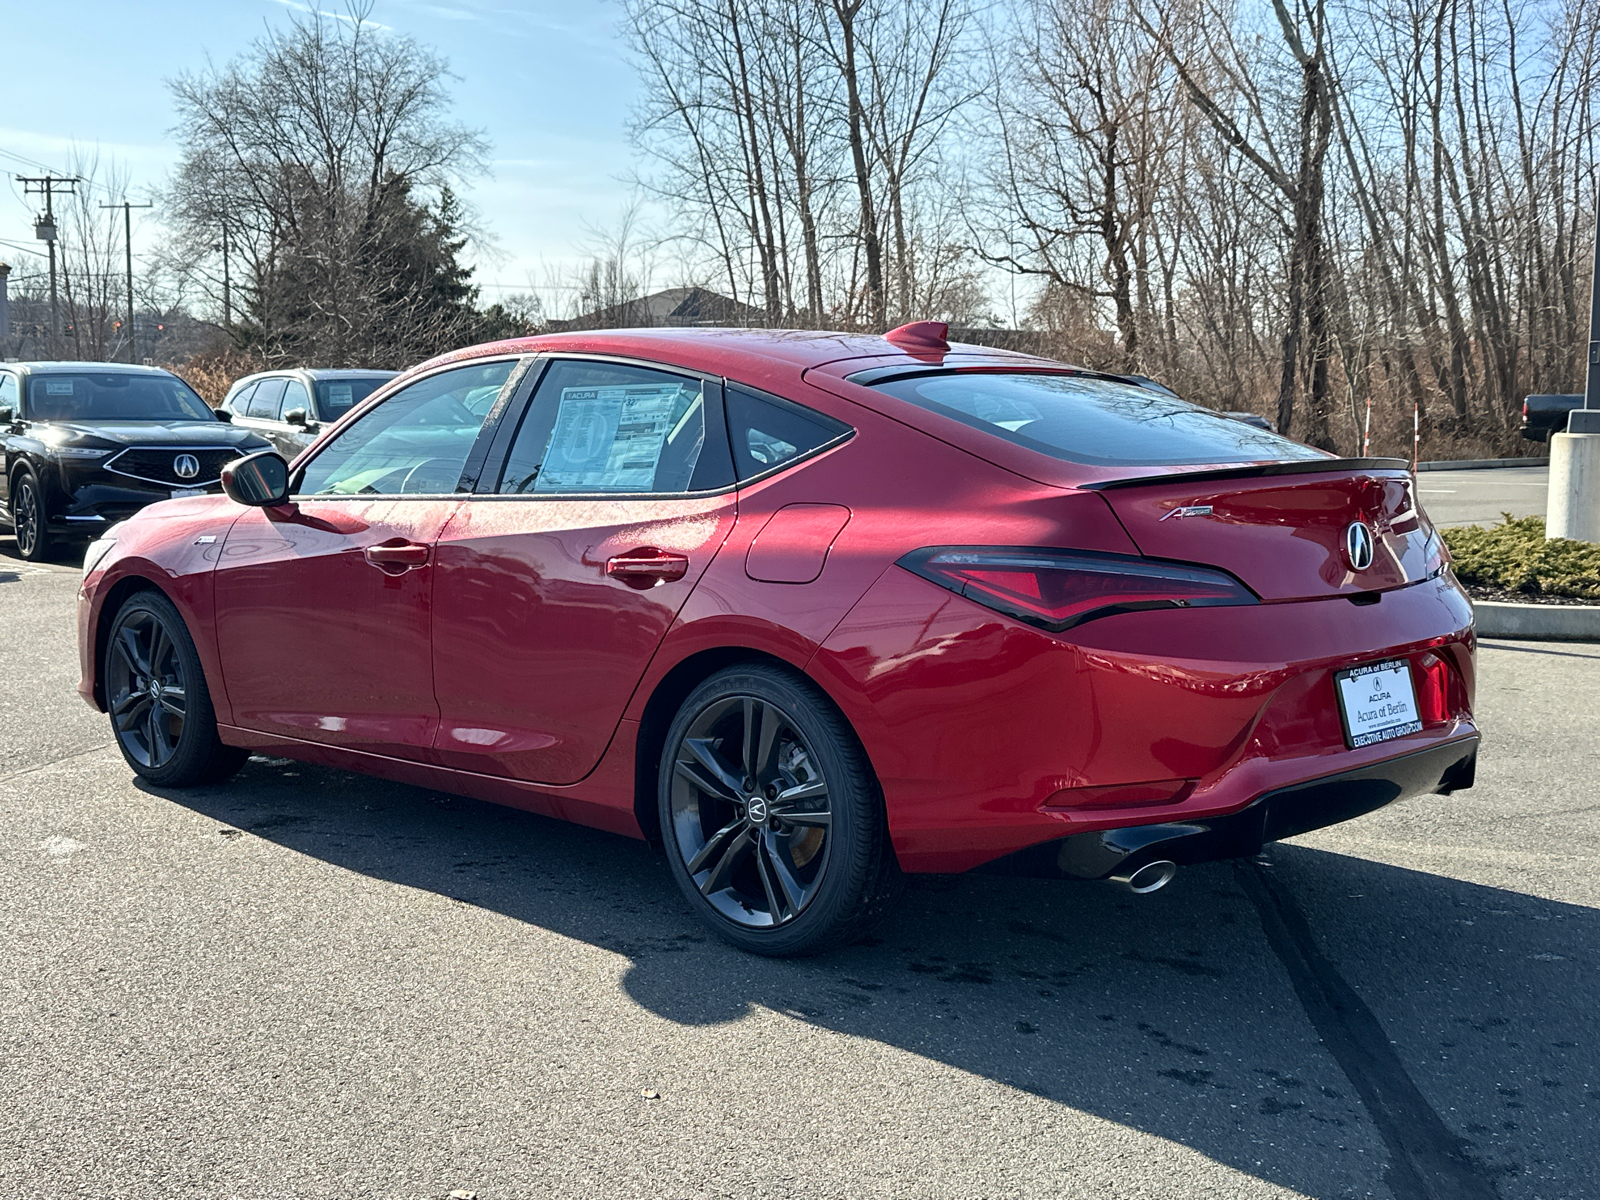
[[[224, 742], [653, 837], [677, 702], [730, 662], [776, 661], [854, 730], [907, 872], [1248, 854], [1470, 786], [1472, 608], [1402, 464], [1053, 459], [861, 374], [1067, 368], [901, 341], [573, 333], [419, 366], [346, 422], [442, 365], [576, 354], [739, 381], [854, 434], [710, 496], [158, 504], [85, 576], [80, 691], [104, 709], [107, 621], [154, 584], [194, 635]], [[1352, 522], [1376, 536], [1365, 570], [1344, 555]], [[363, 554], [402, 542], [429, 547], [416, 570]], [[1051, 632], [902, 565], [974, 546], [1202, 563], [1258, 602]], [[686, 568], [654, 587], [608, 573], [642, 552]], [[1410, 664], [1422, 728], [1352, 747], [1333, 672], [1379, 659]]]

